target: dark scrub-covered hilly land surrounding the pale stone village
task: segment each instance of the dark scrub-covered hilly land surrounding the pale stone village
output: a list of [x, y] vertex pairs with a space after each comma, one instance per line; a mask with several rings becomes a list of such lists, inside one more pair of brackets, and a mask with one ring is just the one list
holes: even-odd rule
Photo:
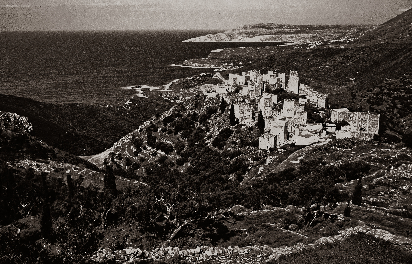
[[[191, 63], [243, 68], [119, 105], [0, 95], [0, 262], [410, 263], [410, 14], [359, 40], [349, 38], [356, 26], [243, 26], [235, 31], [246, 37], [348, 38], [212, 52]], [[258, 126], [231, 124], [231, 105], [202, 91], [250, 69], [297, 70], [300, 83], [328, 92], [329, 109], [379, 113], [379, 135], [260, 149]], [[325, 108], [303, 110], [308, 122], [329, 122]]]

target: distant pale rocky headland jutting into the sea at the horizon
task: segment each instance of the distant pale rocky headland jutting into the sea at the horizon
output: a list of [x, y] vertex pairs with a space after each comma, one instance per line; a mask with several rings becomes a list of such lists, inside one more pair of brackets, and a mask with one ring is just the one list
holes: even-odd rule
[[195, 37], [183, 42], [292, 42], [295, 44], [358, 37], [370, 26], [354, 25], [246, 25], [223, 33]]

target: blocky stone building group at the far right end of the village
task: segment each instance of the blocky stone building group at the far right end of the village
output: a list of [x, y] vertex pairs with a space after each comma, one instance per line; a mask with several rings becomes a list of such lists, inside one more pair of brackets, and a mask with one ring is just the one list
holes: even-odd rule
[[337, 133], [337, 137], [339, 138], [348, 135], [353, 137], [354, 134], [355, 138], [370, 140], [379, 132], [379, 114], [371, 114], [370, 112], [349, 112], [347, 108], [332, 109], [330, 113], [330, 119], [332, 121], [345, 120], [353, 127], [345, 127], [342, 132], [339, 131], [339, 133]]

